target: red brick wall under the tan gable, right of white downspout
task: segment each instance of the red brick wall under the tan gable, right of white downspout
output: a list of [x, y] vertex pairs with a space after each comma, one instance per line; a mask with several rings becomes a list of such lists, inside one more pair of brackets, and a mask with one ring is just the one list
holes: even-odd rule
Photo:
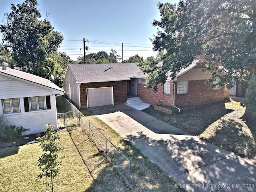
[[214, 102], [220, 102], [224, 99], [225, 88], [213, 90], [210, 84], [205, 85], [205, 80], [188, 81], [188, 93], [177, 95], [177, 82], [175, 84], [175, 106], [190, 107], [200, 106]]

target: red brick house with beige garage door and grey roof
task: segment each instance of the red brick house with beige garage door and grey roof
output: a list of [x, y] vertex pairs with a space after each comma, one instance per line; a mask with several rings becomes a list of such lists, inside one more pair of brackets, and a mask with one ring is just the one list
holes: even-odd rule
[[202, 67], [193, 62], [175, 80], [166, 80], [163, 86], [147, 90], [144, 87], [147, 79], [135, 63], [69, 64], [63, 82], [66, 95], [79, 108], [124, 103], [128, 95], [139, 96], [151, 105], [182, 108], [219, 102], [229, 96], [224, 87], [216, 90], [205, 85], [208, 78], [210, 74], [202, 72]]

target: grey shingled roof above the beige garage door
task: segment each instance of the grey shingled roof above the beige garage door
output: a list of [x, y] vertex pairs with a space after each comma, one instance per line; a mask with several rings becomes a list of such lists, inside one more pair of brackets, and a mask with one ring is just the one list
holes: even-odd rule
[[122, 81], [141, 76], [136, 63], [68, 64], [68, 68], [77, 83]]

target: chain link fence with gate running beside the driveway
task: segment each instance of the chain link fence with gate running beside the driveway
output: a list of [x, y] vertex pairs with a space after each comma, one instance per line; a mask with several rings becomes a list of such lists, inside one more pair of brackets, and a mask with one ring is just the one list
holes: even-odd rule
[[[60, 96], [59, 96], [60, 97]], [[58, 98], [58, 97], [57, 97]], [[89, 135], [89, 138], [94, 142], [96, 148], [105, 157], [105, 162], [109, 163], [116, 174], [118, 174], [124, 184], [130, 189], [131, 183], [131, 160], [129, 160], [106, 136], [90, 122], [73, 104], [65, 97], [60, 98], [60, 104], [67, 106], [69, 112], [58, 113], [58, 126], [67, 127], [75, 124], [81, 125], [82, 131]], [[57, 101], [57, 102], [58, 102]], [[57, 104], [57, 107], [60, 105]], [[58, 108], [57, 108], [58, 110]], [[61, 110], [63, 109], [63, 106]]]

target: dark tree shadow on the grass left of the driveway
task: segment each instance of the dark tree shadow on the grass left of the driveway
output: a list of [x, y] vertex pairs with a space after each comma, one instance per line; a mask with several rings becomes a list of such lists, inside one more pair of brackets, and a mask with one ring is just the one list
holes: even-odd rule
[[[163, 172], [156, 164], [150, 162], [140, 150], [135, 148], [130, 142], [122, 140], [125, 148], [124, 154], [130, 158], [131, 182], [130, 188], [127, 183], [128, 169], [127, 161], [123, 156], [114, 151], [108, 152], [108, 165], [100, 172], [93, 184], [86, 192], [113, 191], [113, 192], [184, 192], [183, 189], [174, 188], [174, 180]], [[124, 177], [126, 177], [124, 179]], [[126, 181], [124, 181], [126, 180]]]

